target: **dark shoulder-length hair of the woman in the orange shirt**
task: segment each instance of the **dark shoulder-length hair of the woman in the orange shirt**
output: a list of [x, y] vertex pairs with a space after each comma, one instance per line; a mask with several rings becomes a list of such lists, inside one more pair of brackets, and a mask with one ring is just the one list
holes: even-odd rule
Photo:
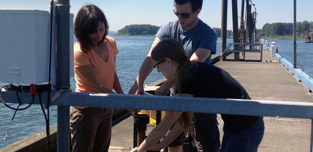
[[99, 22], [105, 25], [105, 34], [99, 42], [104, 43], [106, 35], [108, 35], [109, 24], [105, 18], [104, 13], [95, 5], [88, 4], [80, 8], [74, 21], [74, 34], [77, 42], [80, 44], [80, 49], [83, 52], [88, 52], [92, 45], [88, 34], [93, 34], [98, 30]]

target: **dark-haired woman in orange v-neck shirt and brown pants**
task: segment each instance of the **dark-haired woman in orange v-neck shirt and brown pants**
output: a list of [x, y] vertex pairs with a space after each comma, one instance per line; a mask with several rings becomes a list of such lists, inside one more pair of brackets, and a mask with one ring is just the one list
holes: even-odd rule
[[[95, 5], [83, 6], [74, 21], [76, 92], [122, 93], [115, 71], [119, 53], [109, 25]], [[86, 101], [90, 102], [90, 101]], [[111, 139], [112, 108], [70, 107], [73, 151], [107, 152]]]

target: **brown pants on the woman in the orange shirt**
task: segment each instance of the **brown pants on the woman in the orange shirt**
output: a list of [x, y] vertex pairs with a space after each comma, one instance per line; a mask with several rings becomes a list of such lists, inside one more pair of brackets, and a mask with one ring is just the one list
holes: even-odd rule
[[112, 108], [70, 107], [73, 152], [108, 152]]

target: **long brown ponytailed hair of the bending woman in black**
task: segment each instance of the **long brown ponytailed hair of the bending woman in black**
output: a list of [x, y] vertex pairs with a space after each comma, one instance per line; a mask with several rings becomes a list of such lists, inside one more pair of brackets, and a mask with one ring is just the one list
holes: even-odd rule
[[[151, 51], [151, 58], [155, 61], [161, 61], [165, 58], [170, 58], [171, 60], [179, 64], [175, 72], [176, 80], [174, 93], [181, 93], [180, 82], [186, 76], [188, 76], [187, 72], [193, 66], [193, 63], [187, 58], [183, 46], [175, 39], [162, 39]], [[185, 131], [185, 133], [187, 133], [191, 127], [191, 118], [189, 117], [188, 113], [182, 113], [177, 121], [181, 124], [182, 129]]]

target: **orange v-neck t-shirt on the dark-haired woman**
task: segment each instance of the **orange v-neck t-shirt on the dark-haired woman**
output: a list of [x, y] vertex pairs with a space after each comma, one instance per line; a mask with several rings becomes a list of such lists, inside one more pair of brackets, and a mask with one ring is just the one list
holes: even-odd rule
[[76, 80], [76, 92], [97, 92], [95, 88], [84, 79], [76, 68], [91, 65], [100, 81], [110, 90], [113, 90], [115, 61], [114, 57], [119, 53], [114, 38], [106, 36], [106, 47], [108, 49], [108, 62], [102, 60], [94, 50], [84, 53], [80, 50], [80, 45], [74, 45], [74, 71]]

